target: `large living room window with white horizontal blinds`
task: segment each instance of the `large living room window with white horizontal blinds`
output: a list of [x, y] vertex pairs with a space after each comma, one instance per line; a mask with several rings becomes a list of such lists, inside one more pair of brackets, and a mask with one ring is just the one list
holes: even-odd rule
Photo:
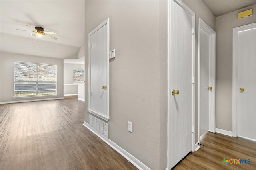
[[14, 97], [57, 94], [57, 66], [14, 62]]

